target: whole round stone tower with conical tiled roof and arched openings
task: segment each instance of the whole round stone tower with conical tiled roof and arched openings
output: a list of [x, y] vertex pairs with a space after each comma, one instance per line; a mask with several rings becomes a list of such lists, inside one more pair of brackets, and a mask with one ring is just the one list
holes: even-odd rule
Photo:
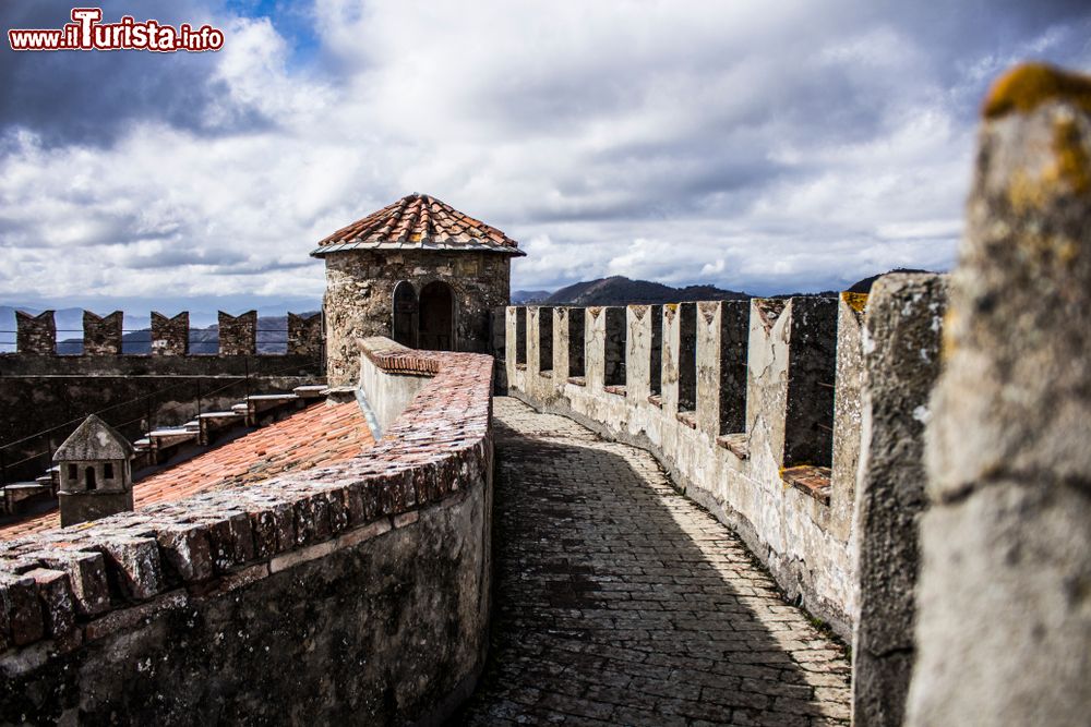
[[410, 194], [334, 232], [311, 255], [326, 263], [323, 302], [331, 386], [359, 377], [356, 339], [491, 352], [490, 314], [511, 302], [518, 244], [427, 194]]

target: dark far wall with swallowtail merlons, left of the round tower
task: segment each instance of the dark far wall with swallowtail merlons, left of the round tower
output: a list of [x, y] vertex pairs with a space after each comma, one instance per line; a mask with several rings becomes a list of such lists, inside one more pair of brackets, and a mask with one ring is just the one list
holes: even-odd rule
[[122, 353], [122, 313], [98, 316], [88, 311], [83, 353], [59, 355], [53, 312], [17, 313], [16, 351], [0, 353], [5, 481], [43, 474], [51, 467], [51, 450], [94, 412], [136, 439], [148, 420], [153, 426], [178, 426], [199, 411], [229, 408], [249, 393], [290, 391], [324, 380], [322, 316], [289, 314], [281, 354], [256, 352], [256, 312], [220, 313], [219, 324], [219, 353], [195, 355], [189, 347], [189, 314], [167, 318], [153, 313], [151, 353], [130, 354]]

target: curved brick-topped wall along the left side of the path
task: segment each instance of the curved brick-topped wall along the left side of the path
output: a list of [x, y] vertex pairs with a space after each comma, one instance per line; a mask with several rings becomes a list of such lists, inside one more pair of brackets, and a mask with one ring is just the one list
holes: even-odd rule
[[403, 358], [431, 377], [353, 460], [0, 545], [0, 713], [449, 712], [485, 649], [492, 359]]

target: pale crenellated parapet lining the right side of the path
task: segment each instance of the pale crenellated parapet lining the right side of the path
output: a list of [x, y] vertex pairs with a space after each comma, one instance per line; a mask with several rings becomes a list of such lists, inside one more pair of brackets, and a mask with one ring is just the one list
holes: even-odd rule
[[[927, 280], [910, 279], [912, 291], [879, 301], [877, 315], [887, 315], [923, 291], [910, 308], [936, 325], [913, 339], [916, 349], [891, 355], [919, 362], [937, 346], [939, 316], [928, 306], [943, 305], [943, 287]], [[866, 295], [846, 293], [512, 307], [508, 387], [654, 451], [687, 495], [743, 536], [790, 597], [848, 637], [856, 611], [851, 533], [861, 389], [874, 350], [874, 342], [862, 344], [865, 306]]]

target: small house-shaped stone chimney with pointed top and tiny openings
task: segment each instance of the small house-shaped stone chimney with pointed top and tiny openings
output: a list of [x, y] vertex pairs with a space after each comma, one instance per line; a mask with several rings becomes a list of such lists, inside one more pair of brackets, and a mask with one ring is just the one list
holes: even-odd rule
[[61, 526], [133, 509], [133, 447], [94, 414], [53, 455]]

